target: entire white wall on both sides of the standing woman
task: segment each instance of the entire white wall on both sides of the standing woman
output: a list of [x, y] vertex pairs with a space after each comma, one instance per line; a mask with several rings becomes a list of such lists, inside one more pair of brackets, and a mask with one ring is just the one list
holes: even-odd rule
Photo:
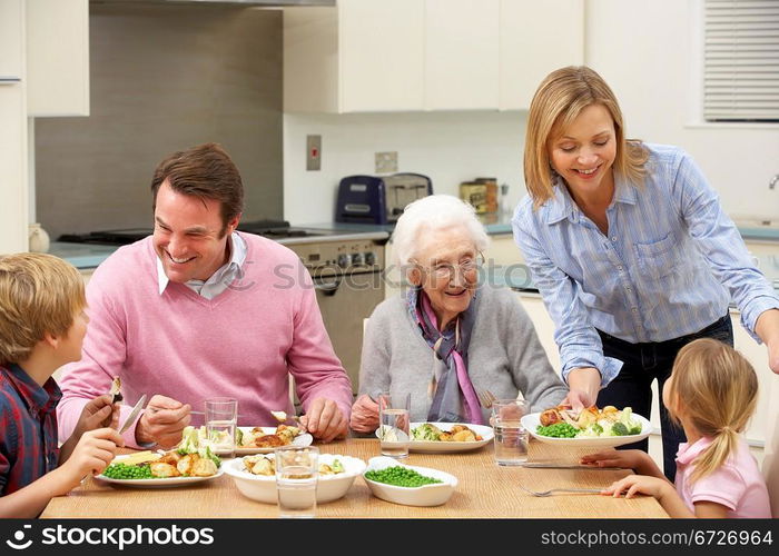
[[[694, 76], [700, 0], [586, 0], [585, 60], [611, 85], [628, 135], [679, 145], [701, 166], [731, 214], [779, 218], [779, 125], [701, 126]], [[550, 68], [552, 71], [555, 68]], [[374, 152], [398, 151], [398, 170], [427, 173], [436, 192], [495, 176], [524, 193], [524, 112], [285, 115], [284, 214], [329, 221], [338, 180], [373, 173]], [[305, 170], [305, 136], [322, 133], [322, 171]]]

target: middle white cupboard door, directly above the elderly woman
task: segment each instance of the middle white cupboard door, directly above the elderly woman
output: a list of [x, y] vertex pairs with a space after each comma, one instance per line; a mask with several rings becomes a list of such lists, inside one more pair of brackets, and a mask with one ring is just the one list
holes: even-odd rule
[[499, 0], [426, 0], [425, 108], [497, 109]]

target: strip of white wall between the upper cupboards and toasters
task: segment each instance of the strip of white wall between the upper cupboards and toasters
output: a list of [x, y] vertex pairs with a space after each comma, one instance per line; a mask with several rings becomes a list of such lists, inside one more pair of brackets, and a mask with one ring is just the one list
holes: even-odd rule
[[[284, 115], [284, 218], [293, 225], [333, 220], [338, 181], [374, 175], [374, 153], [397, 151], [398, 171], [430, 176], [436, 193], [461, 181], [495, 177], [524, 195], [524, 112]], [[306, 135], [322, 135], [322, 170], [306, 171]]]

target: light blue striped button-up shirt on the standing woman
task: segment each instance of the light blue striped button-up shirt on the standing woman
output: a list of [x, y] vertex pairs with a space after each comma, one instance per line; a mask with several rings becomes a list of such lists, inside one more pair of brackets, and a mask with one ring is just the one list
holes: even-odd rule
[[560, 178], [538, 210], [525, 197], [514, 212], [514, 239], [555, 322], [563, 378], [595, 367], [605, 385], [619, 374], [622, 363], [603, 356], [595, 328], [630, 342], [664, 341], [711, 325], [732, 299], [758, 339], [760, 314], [779, 308], [692, 158], [647, 148], [642, 188], [614, 175], [608, 237]]

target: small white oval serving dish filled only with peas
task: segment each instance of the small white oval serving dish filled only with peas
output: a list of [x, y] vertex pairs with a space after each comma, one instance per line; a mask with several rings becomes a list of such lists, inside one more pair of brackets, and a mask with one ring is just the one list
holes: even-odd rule
[[440, 471], [438, 469], [433, 469], [431, 467], [404, 465], [391, 457], [385, 456], [372, 457], [368, 460], [368, 466], [365, 470], [379, 470], [386, 467], [395, 466], [414, 469], [420, 475], [438, 479], [442, 483], [414, 488], [398, 487], [387, 485], [386, 483], [371, 480], [365, 476], [365, 473], [363, 473], [363, 479], [365, 479], [371, 493], [373, 493], [376, 498], [392, 502], [394, 504], [403, 504], [404, 506], [441, 506], [442, 504], [446, 504], [446, 502], [452, 497], [454, 488], [457, 486], [457, 477], [454, 475], [450, 475], [448, 473]]

